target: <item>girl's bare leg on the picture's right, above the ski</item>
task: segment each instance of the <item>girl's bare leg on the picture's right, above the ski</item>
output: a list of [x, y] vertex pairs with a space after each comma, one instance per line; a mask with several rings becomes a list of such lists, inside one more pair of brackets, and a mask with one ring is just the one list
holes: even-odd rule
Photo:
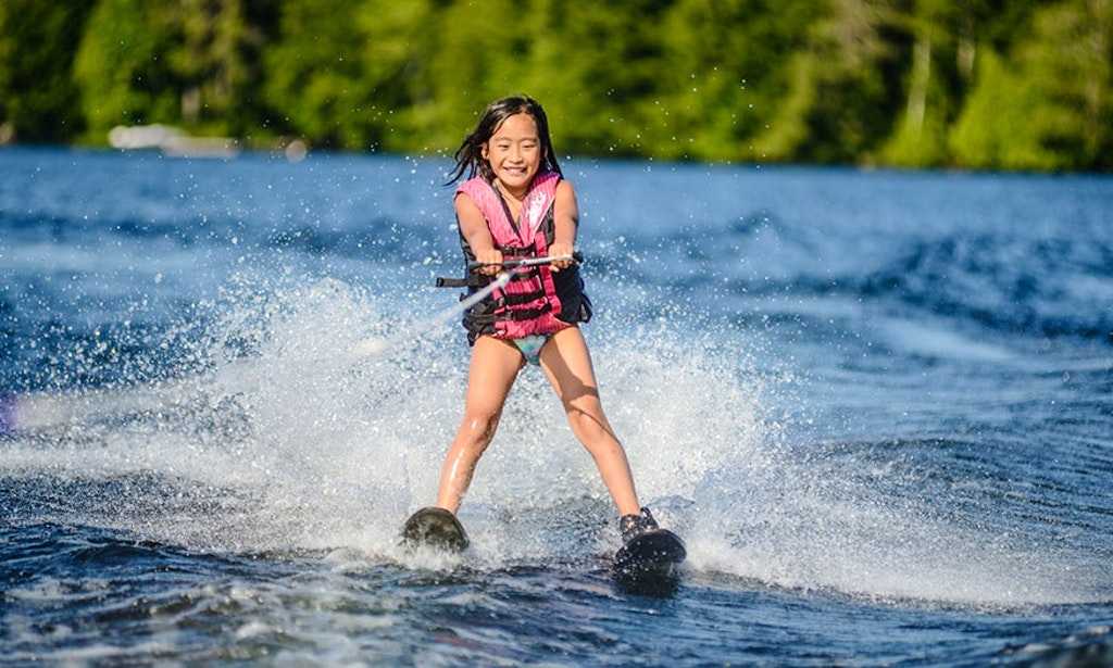
[[595, 460], [619, 515], [638, 515], [630, 463], [603, 415], [591, 355], [579, 328], [562, 329], [549, 339], [541, 349], [541, 368], [564, 405], [572, 433]]

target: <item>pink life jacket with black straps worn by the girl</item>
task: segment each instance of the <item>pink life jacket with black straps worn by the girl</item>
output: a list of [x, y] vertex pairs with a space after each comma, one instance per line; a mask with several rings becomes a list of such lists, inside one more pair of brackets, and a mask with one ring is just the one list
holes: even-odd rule
[[[541, 229], [556, 199], [556, 172], [542, 172], [533, 177], [518, 227], [510, 220], [510, 212], [494, 187], [482, 177], [461, 183], [456, 195], [466, 195], [483, 212], [495, 248], [506, 259], [543, 257], [549, 255], [545, 233]], [[532, 267], [513, 275], [512, 280], [491, 295], [494, 309], [486, 316], [494, 326], [492, 336], [500, 339], [520, 339], [534, 335], [550, 335], [572, 325], [560, 320], [560, 298], [548, 265]]]

